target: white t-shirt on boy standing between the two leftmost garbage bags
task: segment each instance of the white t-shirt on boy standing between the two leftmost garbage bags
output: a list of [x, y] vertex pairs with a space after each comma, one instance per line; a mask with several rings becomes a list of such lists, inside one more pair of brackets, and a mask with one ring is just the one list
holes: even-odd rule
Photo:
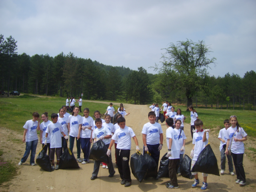
[[63, 132], [63, 129], [59, 122], [50, 123], [47, 126], [46, 133], [50, 135], [50, 148], [62, 147], [61, 132]]

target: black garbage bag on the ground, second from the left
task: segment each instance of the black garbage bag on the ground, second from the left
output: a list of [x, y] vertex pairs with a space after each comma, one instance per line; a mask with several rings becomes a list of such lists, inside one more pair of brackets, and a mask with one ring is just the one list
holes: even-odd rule
[[60, 156], [59, 168], [60, 169], [80, 168], [73, 152], [71, 152], [69, 148], [66, 148], [66, 150], [64, 150], [64, 152]]

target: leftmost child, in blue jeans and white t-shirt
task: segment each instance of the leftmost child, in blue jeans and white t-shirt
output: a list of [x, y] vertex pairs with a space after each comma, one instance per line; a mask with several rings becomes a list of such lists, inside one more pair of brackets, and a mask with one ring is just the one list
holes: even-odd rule
[[36, 147], [37, 147], [37, 143], [38, 143], [38, 136], [37, 136], [36, 131], [40, 130], [40, 120], [41, 119], [39, 118], [39, 114], [37, 112], [34, 112], [32, 114], [32, 116], [33, 116], [33, 119], [28, 120], [25, 123], [25, 125], [23, 126], [24, 133], [23, 133], [22, 142], [26, 142], [26, 151], [18, 165], [22, 165], [22, 163], [26, 162], [26, 160], [30, 154], [30, 151], [31, 151], [30, 165], [32, 165], [32, 166], [36, 165], [35, 164], [35, 155], [36, 155]]

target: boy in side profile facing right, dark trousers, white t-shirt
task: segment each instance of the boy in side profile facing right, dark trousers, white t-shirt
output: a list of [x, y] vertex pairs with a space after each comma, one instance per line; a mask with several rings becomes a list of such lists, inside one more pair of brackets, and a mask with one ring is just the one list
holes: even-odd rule
[[167, 126], [166, 130], [166, 142], [168, 147], [168, 159], [169, 159], [169, 177], [170, 182], [166, 184], [166, 187], [169, 189], [177, 189], [178, 180], [176, 175], [176, 166], [180, 163], [180, 143], [178, 139], [178, 134], [172, 128], [173, 125], [173, 118], [167, 118], [165, 122]]

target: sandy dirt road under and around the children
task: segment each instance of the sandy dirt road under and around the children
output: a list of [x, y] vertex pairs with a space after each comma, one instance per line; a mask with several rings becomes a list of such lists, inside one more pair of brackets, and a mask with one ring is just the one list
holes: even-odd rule
[[[102, 102], [105, 103], [105, 102]], [[126, 112], [130, 112], [130, 115], [126, 116], [126, 125], [131, 127], [136, 137], [138, 138], [139, 146], [142, 150], [142, 127], [148, 122], [148, 112], [150, 111], [148, 106], [142, 105], [132, 105], [125, 104]], [[188, 124], [190, 119], [188, 118], [184, 124], [184, 131], [187, 136], [186, 140], [186, 154], [190, 154], [192, 149], [192, 139], [190, 135], [190, 125]], [[164, 131], [164, 146], [160, 153], [160, 158], [167, 152], [166, 146], [166, 126], [165, 123], [162, 124], [162, 129]], [[8, 130], [8, 128], [0, 128], [0, 145], [4, 150], [5, 159], [13, 160], [16, 164], [22, 158], [25, 151], [25, 144], [21, 141], [17, 142], [17, 139], [22, 139], [22, 135], [17, 135], [16, 133]], [[218, 165], [220, 167], [220, 151], [219, 151], [219, 140], [216, 134], [210, 132], [210, 145], [214, 150], [216, 158], [218, 159]], [[132, 150], [131, 154], [135, 153], [135, 144], [132, 140]], [[41, 149], [40, 143], [37, 147], [37, 152]], [[112, 147], [114, 149], [114, 147]], [[74, 155], [76, 156], [76, 148], [74, 148]], [[83, 154], [81, 154], [82, 157]], [[112, 150], [112, 157], [114, 157], [114, 150]], [[29, 160], [29, 158], [28, 158]], [[115, 162], [114, 158], [112, 159]], [[114, 163], [115, 164], [115, 163]], [[148, 191], [161, 191], [167, 192], [171, 189], [166, 188], [165, 184], [169, 181], [168, 178], [160, 178], [159, 180], [154, 180], [150, 178], [148, 180], [138, 182], [136, 178], [132, 175], [132, 186], [125, 188], [120, 184], [120, 176], [118, 174], [117, 168], [116, 174], [113, 178], [108, 178], [108, 170], [100, 168], [98, 179], [90, 180], [93, 170], [93, 161], [91, 160], [89, 164], [82, 165], [79, 163], [80, 169], [76, 170], [55, 170], [53, 172], [45, 172], [40, 169], [39, 166], [30, 166], [29, 161], [19, 166], [18, 175], [13, 178], [10, 182], [0, 186], [0, 191], [8, 192], [35, 192], [35, 191], [56, 191], [56, 192], [85, 192], [85, 191], [95, 191], [95, 192], [148, 192]], [[228, 167], [226, 163], [226, 167]], [[256, 191], [256, 172], [255, 163], [250, 161], [246, 156], [244, 156], [244, 169], [246, 172], [246, 183], [244, 187], [240, 187], [235, 184], [236, 176], [231, 176], [226, 170], [226, 174], [221, 176], [208, 176], [208, 189], [206, 191], [212, 192], [253, 192]], [[199, 174], [200, 186], [202, 184], [202, 174]], [[198, 188], [191, 188], [194, 180], [183, 178], [178, 176], [179, 189], [172, 189], [177, 192], [196, 192], [200, 190]]]

